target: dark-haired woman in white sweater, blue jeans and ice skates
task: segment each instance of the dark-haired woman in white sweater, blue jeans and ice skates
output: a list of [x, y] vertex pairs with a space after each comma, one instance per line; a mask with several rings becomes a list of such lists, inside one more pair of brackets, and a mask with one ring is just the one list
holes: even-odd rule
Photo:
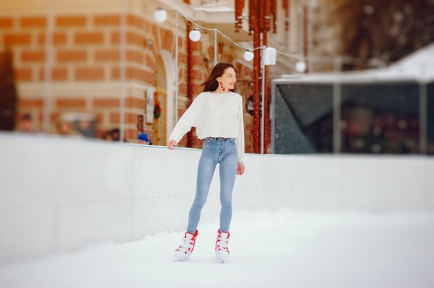
[[173, 150], [182, 136], [196, 127], [204, 139], [196, 183], [196, 197], [189, 212], [184, 242], [175, 251], [175, 260], [185, 260], [193, 252], [200, 212], [207, 200], [209, 186], [217, 163], [220, 165], [220, 228], [216, 240], [216, 256], [220, 262], [229, 257], [229, 225], [232, 218], [232, 190], [236, 175], [244, 173], [243, 98], [234, 93], [236, 73], [231, 63], [218, 63], [191, 106], [182, 115], [167, 143]]

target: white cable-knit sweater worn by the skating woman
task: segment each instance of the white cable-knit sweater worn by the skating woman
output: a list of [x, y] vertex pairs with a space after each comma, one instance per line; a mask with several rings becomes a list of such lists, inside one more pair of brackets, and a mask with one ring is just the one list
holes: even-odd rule
[[236, 138], [238, 163], [244, 156], [243, 98], [240, 94], [200, 93], [175, 125], [169, 140], [177, 143], [196, 127], [199, 139], [207, 137]]

